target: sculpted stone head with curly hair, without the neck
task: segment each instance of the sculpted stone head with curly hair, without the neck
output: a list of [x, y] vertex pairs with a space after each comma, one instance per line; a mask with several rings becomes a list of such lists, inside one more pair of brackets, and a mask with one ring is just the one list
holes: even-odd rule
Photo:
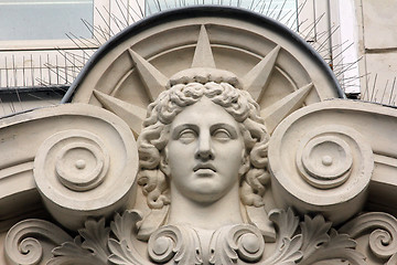
[[180, 83], [149, 105], [138, 139], [138, 183], [148, 205], [169, 204], [171, 186], [212, 203], [236, 183], [243, 204], [262, 205], [269, 136], [256, 102], [233, 82]]

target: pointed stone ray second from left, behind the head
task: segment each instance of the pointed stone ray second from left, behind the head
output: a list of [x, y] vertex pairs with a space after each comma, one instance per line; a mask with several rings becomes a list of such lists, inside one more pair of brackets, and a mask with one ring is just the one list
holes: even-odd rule
[[128, 49], [128, 51], [132, 61], [137, 65], [138, 72], [147, 88], [150, 100], [153, 102], [160, 95], [160, 93], [165, 89], [169, 78], [138, 53], [131, 49]]

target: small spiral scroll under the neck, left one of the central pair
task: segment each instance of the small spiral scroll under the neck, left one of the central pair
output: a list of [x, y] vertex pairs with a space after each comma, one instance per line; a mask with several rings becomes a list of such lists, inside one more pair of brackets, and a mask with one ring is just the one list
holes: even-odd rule
[[167, 225], [157, 230], [148, 242], [149, 257], [164, 264], [203, 264], [200, 240], [192, 229]]

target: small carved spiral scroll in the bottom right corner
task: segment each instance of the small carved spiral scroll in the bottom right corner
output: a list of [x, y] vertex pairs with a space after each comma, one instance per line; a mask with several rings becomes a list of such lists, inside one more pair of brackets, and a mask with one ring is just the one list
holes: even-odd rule
[[379, 258], [391, 258], [397, 253], [397, 219], [388, 213], [371, 212], [353, 219], [340, 229], [357, 239], [369, 234], [369, 248]]

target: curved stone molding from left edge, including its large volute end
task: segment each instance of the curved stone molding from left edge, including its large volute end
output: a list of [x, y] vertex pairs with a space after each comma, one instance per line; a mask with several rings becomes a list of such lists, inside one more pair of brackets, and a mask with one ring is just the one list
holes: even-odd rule
[[65, 104], [1, 119], [0, 131], [6, 148], [0, 182], [10, 190], [4, 203], [15, 197], [29, 211], [26, 201], [40, 193], [61, 224], [77, 230], [88, 216], [112, 215], [129, 199], [138, 151], [131, 130], [116, 115], [87, 104]]

